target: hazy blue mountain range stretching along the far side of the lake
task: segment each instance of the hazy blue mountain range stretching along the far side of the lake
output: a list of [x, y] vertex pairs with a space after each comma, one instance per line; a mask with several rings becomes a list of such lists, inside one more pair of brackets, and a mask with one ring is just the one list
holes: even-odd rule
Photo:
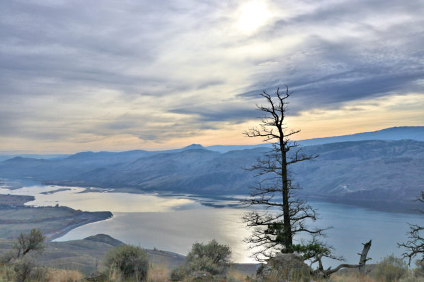
[[[396, 132], [419, 140], [397, 140], [401, 137]], [[308, 141], [314, 145], [304, 145], [305, 141], [302, 152], [319, 154], [319, 158], [293, 165], [291, 173], [304, 188], [300, 194], [309, 198], [408, 203], [424, 191], [423, 132], [424, 127], [388, 128]], [[367, 140], [372, 137], [381, 139]], [[332, 140], [336, 142], [329, 143]], [[226, 150], [230, 148], [237, 149], [193, 144], [156, 152], [81, 152], [51, 159], [15, 157], [0, 162], [0, 178], [29, 177], [47, 184], [122, 191], [130, 188], [135, 192], [247, 195], [248, 187], [259, 179], [243, 167], [253, 165], [269, 147]]]

